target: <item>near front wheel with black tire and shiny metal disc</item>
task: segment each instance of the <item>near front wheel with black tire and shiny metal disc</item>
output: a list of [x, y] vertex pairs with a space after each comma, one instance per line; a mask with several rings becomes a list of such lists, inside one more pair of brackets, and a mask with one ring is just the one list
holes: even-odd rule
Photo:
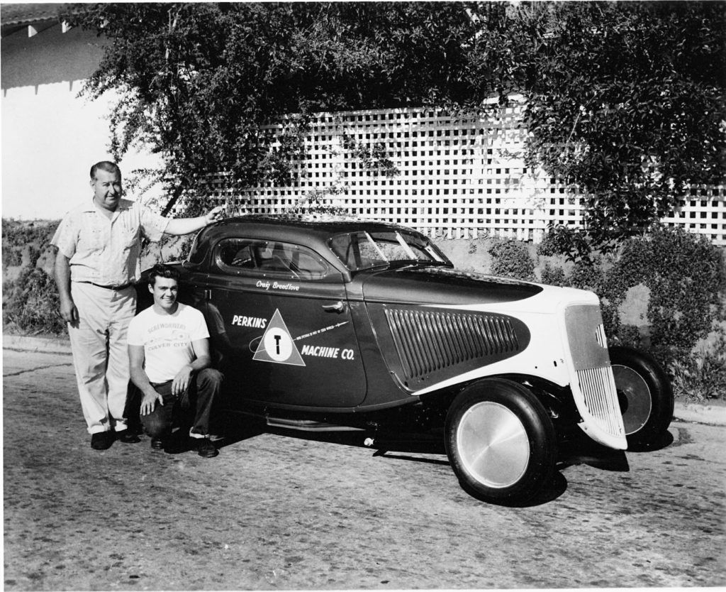
[[449, 407], [446, 454], [465, 491], [489, 503], [521, 503], [550, 481], [557, 438], [528, 389], [486, 379], [465, 388]]

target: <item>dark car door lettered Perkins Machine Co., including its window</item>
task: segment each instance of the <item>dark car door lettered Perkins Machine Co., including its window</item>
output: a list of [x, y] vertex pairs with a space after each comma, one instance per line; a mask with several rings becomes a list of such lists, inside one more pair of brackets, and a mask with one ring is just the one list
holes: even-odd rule
[[362, 402], [364, 367], [340, 272], [285, 241], [230, 237], [212, 257], [208, 315], [224, 328], [213, 347], [230, 407], [245, 399], [318, 408]]

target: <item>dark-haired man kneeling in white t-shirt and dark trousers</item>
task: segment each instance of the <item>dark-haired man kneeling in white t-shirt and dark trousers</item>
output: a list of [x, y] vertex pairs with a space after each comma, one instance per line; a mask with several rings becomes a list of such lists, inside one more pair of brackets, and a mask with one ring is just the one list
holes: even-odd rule
[[191, 445], [200, 456], [213, 457], [218, 452], [209, 425], [224, 377], [209, 367], [203, 314], [176, 302], [178, 289], [179, 272], [155, 265], [149, 276], [154, 305], [129, 324], [131, 381], [142, 392], [141, 422], [152, 448], [174, 453]]

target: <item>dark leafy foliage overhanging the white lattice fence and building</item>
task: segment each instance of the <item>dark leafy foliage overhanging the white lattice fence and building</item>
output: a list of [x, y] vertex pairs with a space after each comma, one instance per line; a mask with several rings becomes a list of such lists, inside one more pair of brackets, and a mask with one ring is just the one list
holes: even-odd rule
[[[606, 246], [662, 217], [688, 185], [726, 177], [720, 2], [119, 3], [70, 12], [110, 41], [86, 89], [121, 94], [114, 153], [150, 145], [174, 196], [219, 170], [232, 185], [289, 183], [317, 111], [481, 112], [485, 100], [505, 105], [513, 93], [526, 99], [529, 167], [587, 196], [576, 244]], [[269, 122], [281, 122], [279, 147]]]

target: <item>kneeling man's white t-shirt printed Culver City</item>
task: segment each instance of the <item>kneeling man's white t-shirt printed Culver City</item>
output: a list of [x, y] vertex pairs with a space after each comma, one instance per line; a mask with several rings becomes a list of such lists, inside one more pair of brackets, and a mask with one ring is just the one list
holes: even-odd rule
[[144, 370], [152, 383], [174, 380], [176, 373], [195, 360], [192, 341], [209, 337], [204, 315], [179, 304], [174, 314], [158, 313], [153, 306], [129, 323], [129, 345], [144, 346]]

